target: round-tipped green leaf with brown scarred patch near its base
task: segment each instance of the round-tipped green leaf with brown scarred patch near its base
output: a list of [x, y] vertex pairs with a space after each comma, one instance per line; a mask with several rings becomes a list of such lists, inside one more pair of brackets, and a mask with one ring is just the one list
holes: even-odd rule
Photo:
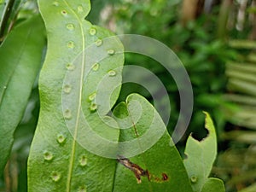
[[[120, 150], [120, 155], [143, 152], [131, 157], [130, 160], [148, 170], [150, 177], [150, 182], [148, 177], [142, 177], [142, 183], [137, 183], [135, 174], [119, 163], [113, 191], [192, 191], [183, 160], [172, 143], [165, 124], [143, 96], [131, 94], [126, 102], [119, 103], [113, 113], [119, 117], [118, 122], [122, 130], [119, 142], [122, 144], [125, 141], [132, 141], [122, 148], [123, 153]], [[131, 129], [125, 129], [127, 125], [133, 126]], [[134, 142], [135, 140], [137, 141]], [[168, 177], [166, 181], [162, 174]]]

